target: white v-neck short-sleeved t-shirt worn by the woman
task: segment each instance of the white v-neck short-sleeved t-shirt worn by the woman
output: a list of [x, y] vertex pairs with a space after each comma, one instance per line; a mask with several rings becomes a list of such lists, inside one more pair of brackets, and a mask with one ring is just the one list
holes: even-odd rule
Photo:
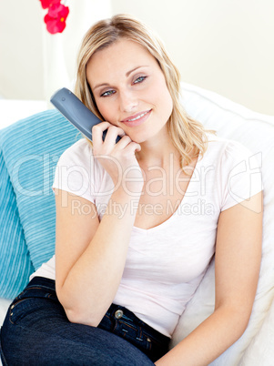
[[[199, 156], [174, 214], [152, 229], [133, 227], [113, 301], [169, 337], [214, 255], [220, 212], [262, 190], [258, 157], [238, 142], [208, 137], [208, 150]], [[53, 188], [95, 203], [101, 220], [114, 184], [83, 138], [59, 159]], [[172, 214], [170, 205], [167, 209]], [[55, 257], [31, 278], [35, 276], [55, 280]]]

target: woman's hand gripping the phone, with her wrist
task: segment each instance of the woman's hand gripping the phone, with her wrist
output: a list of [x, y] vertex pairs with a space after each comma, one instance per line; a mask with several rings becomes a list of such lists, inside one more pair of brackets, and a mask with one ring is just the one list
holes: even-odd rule
[[[103, 141], [103, 132], [107, 136]], [[141, 192], [144, 178], [135, 156], [141, 147], [125, 134], [121, 127], [102, 122], [92, 128], [93, 154], [112, 178], [116, 189], [123, 188], [128, 193]], [[117, 142], [117, 136], [122, 138]]]

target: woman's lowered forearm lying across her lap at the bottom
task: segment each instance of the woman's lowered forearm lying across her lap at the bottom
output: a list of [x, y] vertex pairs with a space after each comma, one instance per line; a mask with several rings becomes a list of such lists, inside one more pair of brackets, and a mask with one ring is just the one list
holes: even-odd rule
[[249, 311], [219, 308], [155, 364], [207, 366], [238, 340], [248, 321]]

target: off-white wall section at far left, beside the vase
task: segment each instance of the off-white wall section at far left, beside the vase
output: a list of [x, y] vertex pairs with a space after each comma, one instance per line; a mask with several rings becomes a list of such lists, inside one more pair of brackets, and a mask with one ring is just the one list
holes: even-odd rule
[[0, 96], [43, 97], [40, 7], [38, 0], [0, 0]]

